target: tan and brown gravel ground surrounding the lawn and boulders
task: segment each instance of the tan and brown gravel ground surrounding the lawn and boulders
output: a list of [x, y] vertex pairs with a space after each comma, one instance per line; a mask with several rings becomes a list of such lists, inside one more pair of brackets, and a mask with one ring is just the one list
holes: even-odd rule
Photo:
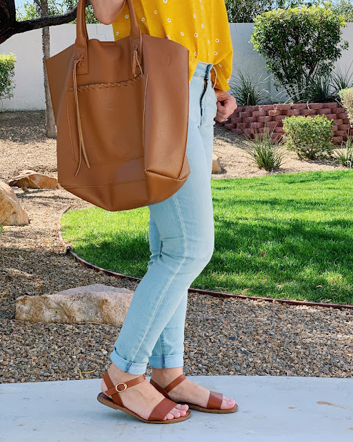
[[[56, 176], [55, 141], [46, 139], [44, 123], [43, 111], [0, 113], [0, 179], [8, 181], [21, 169]], [[221, 131], [226, 144], [229, 131], [215, 128], [215, 134]], [[101, 378], [119, 327], [17, 321], [15, 300], [94, 283], [134, 290], [137, 283], [86, 269], [64, 255], [59, 213], [68, 205], [91, 204], [65, 190], [14, 190], [30, 224], [4, 227], [0, 236], [0, 382]], [[192, 293], [185, 374], [352, 377], [352, 325], [352, 310]]]

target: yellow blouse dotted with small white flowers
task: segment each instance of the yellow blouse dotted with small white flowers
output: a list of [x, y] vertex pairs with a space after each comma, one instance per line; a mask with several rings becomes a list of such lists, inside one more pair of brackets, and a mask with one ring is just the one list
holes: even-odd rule
[[[189, 81], [199, 61], [214, 64], [215, 88], [229, 90], [233, 47], [224, 0], [133, 0], [143, 34], [167, 38], [189, 49]], [[112, 23], [114, 40], [130, 34], [125, 1]], [[211, 71], [214, 82], [214, 70]]]

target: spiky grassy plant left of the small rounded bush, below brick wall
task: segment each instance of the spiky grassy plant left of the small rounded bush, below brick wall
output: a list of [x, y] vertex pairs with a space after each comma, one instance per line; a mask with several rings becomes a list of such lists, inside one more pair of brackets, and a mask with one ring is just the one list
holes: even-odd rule
[[248, 139], [244, 146], [240, 146], [256, 162], [259, 168], [265, 169], [265, 171], [281, 166], [286, 153], [282, 140], [273, 140], [273, 133], [274, 129], [270, 131], [265, 124], [263, 133], [257, 133], [254, 129], [254, 140], [246, 134], [245, 137]]

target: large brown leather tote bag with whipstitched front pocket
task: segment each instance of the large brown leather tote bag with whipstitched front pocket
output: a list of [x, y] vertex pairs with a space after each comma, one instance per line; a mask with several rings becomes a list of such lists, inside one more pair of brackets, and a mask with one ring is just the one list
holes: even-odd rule
[[108, 211], [166, 200], [190, 174], [189, 50], [131, 30], [117, 41], [88, 39], [85, 0], [77, 38], [46, 59], [57, 125], [58, 181]]

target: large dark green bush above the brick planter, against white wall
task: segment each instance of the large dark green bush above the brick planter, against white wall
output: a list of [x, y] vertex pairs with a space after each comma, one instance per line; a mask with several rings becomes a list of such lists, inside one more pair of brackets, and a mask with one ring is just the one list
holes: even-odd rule
[[250, 42], [266, 60], [276, 87], [283, 87], [294, 102], [305, 95], [305, 79], [332, 72], [341, 50], [345, 21], [330, 8], [301, 5], [263, 12], [254, 19]]

